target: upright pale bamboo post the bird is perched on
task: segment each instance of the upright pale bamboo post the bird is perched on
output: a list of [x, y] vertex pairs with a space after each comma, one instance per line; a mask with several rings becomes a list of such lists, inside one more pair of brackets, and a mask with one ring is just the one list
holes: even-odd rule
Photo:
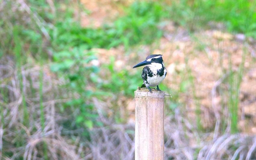
[[164, 92], [135, 93], [135, 160], [164, 160]]

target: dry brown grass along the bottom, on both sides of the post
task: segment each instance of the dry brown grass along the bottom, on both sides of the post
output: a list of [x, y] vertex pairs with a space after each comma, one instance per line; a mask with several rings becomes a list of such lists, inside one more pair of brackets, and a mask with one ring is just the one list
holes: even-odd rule
[[[104, 116], [109, 110], [106, 102], [94, 99], [95, 110], [104, 127], [90, 131], [91, 140], [78, 136], [82, 130], [65, 130], [62, 123], [72, 118], [60, 112], [58, 104], [68, 99], [57, 99], [57, 86], [61, 83], [44, 69], [44, 113], [45, 128], [39, 121], [39, 94], [31, 97], [28, 77], [33, 80], [33, 88], [39, 89], [39, 67], [26, 67], [22, 71], [26, 86], [26, 102], [30, 113], [30, 125], [22, 124], [23, 113], [20, 109], [21, 95], [17, 80], [17, 71], [13, 60], [6, 57], [1, 60], [1, 89], [8, 93], [8, 103], [3, 102], [4, 124], [0, 129], [0, 148], [2, 152], [14, 153], [4, 159], [40, 159], [43, 156], [43, 142], [47, 145], [47, 154], [51, 159], [133, 159], [134, 123], [116, 124], [113, 117]], [[8, 71], [7, 71], [8, 70]], [[173, 115], [165, 118], [165, 158], [174, 159], [250, 159], [255, 155], [256, 140], [246, 134], [223, 134], [214, 137], [214, 133], [199, 133], [186, 112], [175, 109]], [[228, 129], [228, 128], [227, 128]], [[227, 131], [228, 132], [228, 131]], [[20, 143], [17, 147], [17, 143]], [[198, 155], [195, 155], [195, 152]]]

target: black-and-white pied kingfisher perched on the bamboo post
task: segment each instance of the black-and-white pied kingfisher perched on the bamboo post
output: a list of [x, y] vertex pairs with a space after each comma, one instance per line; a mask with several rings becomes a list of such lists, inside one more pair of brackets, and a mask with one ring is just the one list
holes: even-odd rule
[[140, 67], [146, 65], [142, 70], [142, 80], [143, 84], [141, 87], [147, 87], [149, 92], [152, 93], [150, 87], [157, 87], [158, 91], [161, 91], [158, 87], [159, 83], [161, 83], [166, 74], [166, 68], [164, 67], [164, 61], [162, 58], [163, 55], [161, 54], [153, 54], [147, 56], [145, 61], [140, 62], [139, 64], [135, 65], [133, 68]]

